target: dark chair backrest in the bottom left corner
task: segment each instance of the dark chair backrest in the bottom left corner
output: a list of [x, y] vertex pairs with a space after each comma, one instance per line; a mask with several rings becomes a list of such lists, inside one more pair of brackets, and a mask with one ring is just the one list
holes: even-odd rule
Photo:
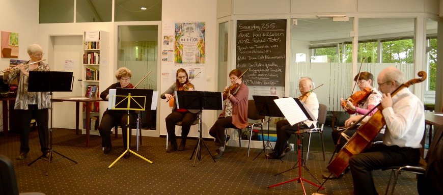
[[14, 165], [4, 155], [0, 155], [0, 194], [18, 194]]

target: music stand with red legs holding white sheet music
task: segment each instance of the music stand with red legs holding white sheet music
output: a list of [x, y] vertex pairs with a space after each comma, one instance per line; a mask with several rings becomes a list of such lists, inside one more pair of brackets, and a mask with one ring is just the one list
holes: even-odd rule
[[[298, 101], [298, 99], [295, 98], [282, 98], [282, 99], [278, 99], [278, 100], [274, 100], [276, 104], [279, 105], [279, 108], [281, 110], [281, 112], [285, 115], [285, 117], [288, 119], [288, 122], [291, 125], [295, 125], [298, 124], [302, 121], [306, 121], [306, 120], [316, 120], [313, 118], [312, 114], [306, 109], [306, 107], [304, 107], [304, 104], [302, 104], [300, 101]], [[299, 112], [301, 110], [301, 113]], [[304, 115], [304, 116], [303, 116]], [[290, 179], [278, 184], [273, 184], [268, 186], [268, 188], [272, 188], [272, 187], [276, 187], [279, 185], [283, 185], [286, 183], [290, 183], [293, 181], [297, 181], [298, 183], [301, 184], [301, 188], [303, 189], [303, 193], [306, 194], [306, 190], [304, 190], [304, 185], [303, 185], [303, 181], [308, 182], [309, 184], [318, 187], [319, 189], [324, 189], [324, 187], [321, 187], [320, 185], [317, 185], [307, 179], [304, 179], [301, 177], [301, 144], [300, 144], [300, 129], [297, 129], [297, 136], [298, 136], [298, 161], [297, 163], [299, 164], [298, 166], [298, 177], [295, 179]], [[295, 166], [295, 165], [294, 165]], [[306, 166], [303, 166], [304, 169], [318, 182], [320, 183], [312, 174], [311, 172], [309, 172], [308, 168], [306, 168]], [[292, 170], [292, 169], [291, 169]]]

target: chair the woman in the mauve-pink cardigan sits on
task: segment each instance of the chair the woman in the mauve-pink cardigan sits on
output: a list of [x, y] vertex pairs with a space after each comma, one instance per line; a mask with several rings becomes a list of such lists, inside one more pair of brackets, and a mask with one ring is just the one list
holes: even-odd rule
[[[255, 101], [254, 100], [248, 100], [247, 101], [247, 118], [260, 122], [255, 123], [249, 123], [246, 128], [250, 129], [250, 137], [249, 137], [249, 145], [247, 147], [247, 156], [249, 156], [250, 150], [251, 150], [251, 141], [252, 141], [252, 134], [255, 127], [260, 127], [261, 132], [263, 132], [263, 123], [265, 121], [265, 117], [261, 116], [257, 112], [257, 108], [255, 107]], [[238, 144], [241, 147], [241, 129], [237, 129], [238, 131]], [[228, 128], [225, 129], [225, 146], [226, 147], [226, 138], [228, 136]], [[264, 139], [262, 139], [263, 142], [263, 148], [265, 147]]]

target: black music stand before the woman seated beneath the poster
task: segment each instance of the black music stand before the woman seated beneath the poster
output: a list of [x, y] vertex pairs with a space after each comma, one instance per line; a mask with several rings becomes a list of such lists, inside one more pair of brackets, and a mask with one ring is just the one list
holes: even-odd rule
[[[175, 91], [175, 97], [177, 102], [177, 108], [185, 108], [185, 109], [212, 109], [212, 110], [220, 110], [223, 109], [223, 97], [221, 96], [221, 92], [200, 92], [200, 91]], [[196, 160], [199, 158], [199, 161], [202, 159], [202, 143], [205, 145], [206, 150], [208, 150], [209, 155], [211, 155], [212, 160], [215, 161], [214, 156], [212, 156], [211, 151], [209, 151], [208, 146], [202, 137], [202, 113], [198, 113], [199, 119], [199, 138], [196, 144], [196, 147], [192, 151], [191, 157], [196, 154], [194, 158], [193, 166], [196, 166]]]

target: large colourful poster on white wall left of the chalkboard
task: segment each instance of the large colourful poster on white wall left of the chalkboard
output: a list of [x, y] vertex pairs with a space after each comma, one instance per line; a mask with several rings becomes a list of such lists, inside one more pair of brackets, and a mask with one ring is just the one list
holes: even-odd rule
[[205, 22], [175, 23], [174, 63], [205, 63]]

